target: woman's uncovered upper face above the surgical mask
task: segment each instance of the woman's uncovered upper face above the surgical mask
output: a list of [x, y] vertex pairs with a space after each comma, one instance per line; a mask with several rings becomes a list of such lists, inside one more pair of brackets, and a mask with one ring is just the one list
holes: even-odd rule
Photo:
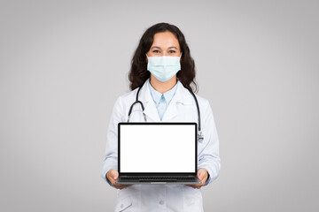
[[151, 49], [147, 52], [148, 57], [181, 56], [181, 49], [175, 34], [171, 32], [157, 33], [154, 34], [153, 40]]

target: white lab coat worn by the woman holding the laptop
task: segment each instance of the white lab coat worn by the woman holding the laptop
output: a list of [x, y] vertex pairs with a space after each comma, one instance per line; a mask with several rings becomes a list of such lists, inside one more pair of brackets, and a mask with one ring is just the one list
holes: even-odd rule
[[[148, 79], [149, 80], [149, 79]], [[162, 117], [163, 122], [198, 122], [197, 107], [193, 96], [177, 81], [175, 96], [169, 103]], [[102, 178], [108, 170], [117, 170], [118, 123], [128, 121], [128, 110], [136, 101], [137, 88], [126, 95], [121, 95], [114, 104], [110, 120]], [[201, 115], [203, 142], [198, 142], [198, 169], [205, 168], [210, 178], [206, 185], [218, 177], [221, 163], [219, 157], [219, 141], [214, 124], [214, 117], [209, 102], [198, 96]], [[141, 88], [139, 98], [144, 103], [144, 113], [148, 122], [160, 122], [159, 113], [146, 81]], [[143, 112], [139, 104], [132, 110], [130, 122], [144, 122]], [[155, 135], [156, 136], [156, 135]], [[106, 180], [106, 178], [105, 178]], [[107, 181], [107, 180], [106, 180]], [[209, 200], [209, 199], [207, 199]], [[203, 211], [200, 189], [183, 185], [134, 185], [118, 190], [115, 211]]]

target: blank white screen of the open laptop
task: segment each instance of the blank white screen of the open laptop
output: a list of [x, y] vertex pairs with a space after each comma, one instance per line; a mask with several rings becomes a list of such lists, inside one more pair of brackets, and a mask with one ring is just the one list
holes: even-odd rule
[[195, 172], [196, 125], [120, 125], [121, 172]]

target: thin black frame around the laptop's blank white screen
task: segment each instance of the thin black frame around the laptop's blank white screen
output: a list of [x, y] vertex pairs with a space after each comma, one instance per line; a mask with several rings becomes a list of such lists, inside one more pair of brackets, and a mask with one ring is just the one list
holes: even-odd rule
[[[195, 167], [194, 172], [121, 172], [121, 125], [195, 125]], [[197, 176], [198, 166], [198, 124], [196, 122], [120, 122], [118, 124], [118, 170], [121, 176]]]

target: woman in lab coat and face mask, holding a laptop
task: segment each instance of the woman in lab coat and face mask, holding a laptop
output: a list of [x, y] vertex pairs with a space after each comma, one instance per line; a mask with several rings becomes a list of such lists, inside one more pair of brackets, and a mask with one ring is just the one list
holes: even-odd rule
[[143, 34], [129, 72], [131, 92], [115, 102], [108, 133], [102, 177], [119, 189], [115, 211], [203, 211], [201, 186], [218, 177], [221, 167], [219, 141], [209, 102], [196, 95], [205, 138], [198, 141], [199, 185], [118, 185], [117, 124], [128, 121], [128, 110], [136, 101], [144, 104], [144, 113], [136, 104], [129, 117], [132, 122], [198, 122], [198, 110], [189, 90], [197, 85], [195, 64], [179, 28], [159, 23]]

